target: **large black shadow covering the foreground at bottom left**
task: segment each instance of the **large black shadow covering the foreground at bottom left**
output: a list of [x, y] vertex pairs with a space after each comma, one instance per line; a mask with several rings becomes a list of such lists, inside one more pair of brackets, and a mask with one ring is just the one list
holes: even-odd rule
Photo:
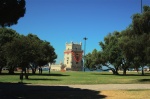
[[1, 99], [102, 99], [99, 91], [68, 86], [38, 86], [0, 83]]

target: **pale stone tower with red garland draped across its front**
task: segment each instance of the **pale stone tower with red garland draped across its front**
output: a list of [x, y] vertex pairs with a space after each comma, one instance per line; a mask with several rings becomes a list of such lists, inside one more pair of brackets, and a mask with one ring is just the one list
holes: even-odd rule
[[82, 43], [66, 43], [66, 50], [64, 51], [64, 65], [66, 66], [66, 70], [82, 70], [82, 53]]

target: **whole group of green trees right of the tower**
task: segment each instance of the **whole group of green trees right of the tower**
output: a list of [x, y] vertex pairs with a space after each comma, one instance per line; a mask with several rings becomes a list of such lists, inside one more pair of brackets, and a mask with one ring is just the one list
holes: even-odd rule
[[[144, 6], [143, 9], [143, 13], [133, 14], [132, 23], [125, 30], [114, 31], [99, 43], [102, 50], [100, 55], [97, 54], [99, 62], [92, 61], [94, 65], [103, 64], [113, 74], [122, 69], [124, 75], [129, 68], [137, 71], [141, 68], [144, 75], [144, 66], [150, 64], [150, 7]], [[97, 55], [92, 52], [86, 57], [90, 61], [95, 60]]]

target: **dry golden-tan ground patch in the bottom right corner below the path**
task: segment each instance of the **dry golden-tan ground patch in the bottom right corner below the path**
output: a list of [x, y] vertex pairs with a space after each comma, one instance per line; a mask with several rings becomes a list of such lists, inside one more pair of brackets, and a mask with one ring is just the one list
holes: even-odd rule
[[101, 95], [106, 95], [105, 99], [150, 99], [150, 90], [106, 90], [101, 91]]

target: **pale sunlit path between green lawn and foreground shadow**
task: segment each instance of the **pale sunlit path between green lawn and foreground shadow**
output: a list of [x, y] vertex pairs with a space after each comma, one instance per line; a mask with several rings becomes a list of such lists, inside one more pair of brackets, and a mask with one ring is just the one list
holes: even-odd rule
[[[42, 85], [42, 86], [45, 86], [45, 85]], [[52, 86], [68, 86], [71, 88], [89, 89], [89, 90], [95, 90], [95, 91], [150, 89], [150, 84], [97, 84], [97, 85], [52, 85]]]

